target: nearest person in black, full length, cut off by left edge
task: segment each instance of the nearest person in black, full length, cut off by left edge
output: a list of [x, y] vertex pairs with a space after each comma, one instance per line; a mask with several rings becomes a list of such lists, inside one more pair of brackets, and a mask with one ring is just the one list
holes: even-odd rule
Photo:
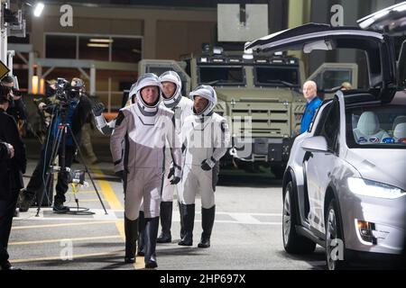
[[23, 188], [27, 165], [25, 148], [13, 116], [5, 111], [12, 102], [11, 88], [0, 84], [0, 269], [14, 267], [8, 261], [8, 238], [13, 222], [18, 192]]

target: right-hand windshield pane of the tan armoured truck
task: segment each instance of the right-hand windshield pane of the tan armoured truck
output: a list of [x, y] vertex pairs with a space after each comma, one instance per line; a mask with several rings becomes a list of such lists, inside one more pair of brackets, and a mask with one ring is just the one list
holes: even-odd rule
[[298, 67], [254, 67], [256, 86], [299, 86]]

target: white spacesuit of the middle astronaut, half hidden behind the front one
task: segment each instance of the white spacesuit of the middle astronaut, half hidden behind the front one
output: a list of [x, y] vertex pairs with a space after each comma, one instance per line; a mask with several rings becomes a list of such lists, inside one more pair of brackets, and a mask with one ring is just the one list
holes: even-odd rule
[[[181, 95], [182, 82], [178, 73], [174, 71], [164, 72], [160, 76], [160, 81], [161, 85], [166, 85], [166, 82], [171, 82], [176, 87], [173, 94], [168, 95], [165, 94], [165, 89], [163, 89], [161, 106], [171, 109], [171, 111], [174, 112], [175, 130], [176, 133], [180, 135], [181, 127], [185, 118], [192, 113], [193, 102], [189, 98]], [[167, 150], [165, 156], [165, 178], [163, 180], [161, 199], [161, 235], [157, 238], [158, 243], [171, 242], [172, 203], [175, 185], [170, 183], [171, 173], [173, 173], [173, 163], [170, 151]], [[181, 185], [178, 184], [178, 191], [180, 190], [180, 187]], [[181, 213], [181, 202], [178, 204]]]

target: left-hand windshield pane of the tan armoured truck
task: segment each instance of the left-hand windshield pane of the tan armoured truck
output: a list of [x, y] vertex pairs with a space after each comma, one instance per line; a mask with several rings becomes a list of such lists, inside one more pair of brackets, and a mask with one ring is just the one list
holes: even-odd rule
[[201, 66], [198, 67], [198, 83], [245, 85], [244, 69], [241, 66]]

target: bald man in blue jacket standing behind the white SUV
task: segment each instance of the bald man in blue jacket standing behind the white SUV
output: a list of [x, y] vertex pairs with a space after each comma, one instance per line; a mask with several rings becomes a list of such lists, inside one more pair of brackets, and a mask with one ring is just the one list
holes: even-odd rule
[[321, 99], [318, 98], [318, 85], [314, 81], [307, 81], [303, 85], [303, 96], [305, 97], [306, 104], [305, 112], [300, 123], [300, 134], [306, 132], [309, 129], [310, 122], [313, 119], [314, 114], [318, 111], [318, 107], [321, 105]]

